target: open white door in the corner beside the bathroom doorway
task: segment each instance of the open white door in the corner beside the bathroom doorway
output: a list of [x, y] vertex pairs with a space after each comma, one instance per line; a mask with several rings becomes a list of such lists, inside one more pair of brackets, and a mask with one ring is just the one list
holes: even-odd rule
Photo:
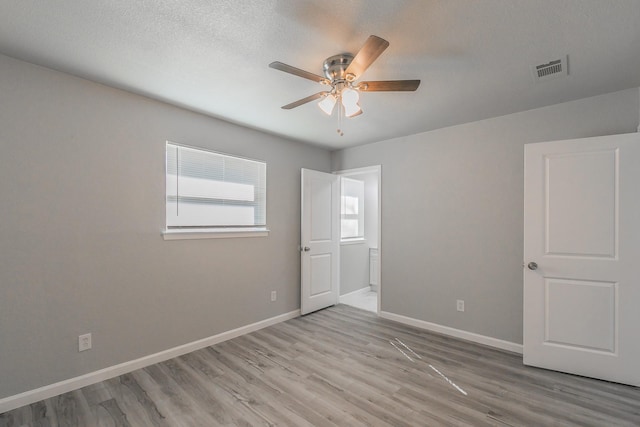
[[339, 176], [302, 169], [300, 311], [338, 302], [340, 272]]

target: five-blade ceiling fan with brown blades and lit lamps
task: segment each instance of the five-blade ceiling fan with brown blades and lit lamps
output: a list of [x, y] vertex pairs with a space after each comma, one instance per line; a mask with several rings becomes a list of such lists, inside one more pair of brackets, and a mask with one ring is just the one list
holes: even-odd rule
[[[359, 92], [415, 91], [420, 86], [420, 80], [357, 82], [387, 47], [389, 47], [388, 41], [378, 36], [369, 36], [364, 46], [355, 55], [341, 53], [325, 59], [323, 64], [325, 77], [279, 61], [272, 62], [269, 64], [271, 68], [329, 86], [325, 91], [299, 99], [291, 104], [284, 105], [282, 108], [290, 110], [322, 98], [318, 106], [328, 115], [333, 113], [335, 105], [338, 104], [340, 110], [344, 108], [346, 117], [355, 117], [362, 114], [362, 109], [358, 104]], [[341, 117], [341, 112], [339, 114], [339, 117]], [[341, 133], [341, 131], [338, 130], [338, 133]]]

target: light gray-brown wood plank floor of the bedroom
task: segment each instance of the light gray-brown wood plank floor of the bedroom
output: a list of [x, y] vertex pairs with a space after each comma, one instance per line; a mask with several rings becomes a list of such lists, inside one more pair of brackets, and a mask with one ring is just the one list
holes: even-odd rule
[[638, 426], [640, 389], [338, 305], [0, 414], [2, 427], [218, 425]]

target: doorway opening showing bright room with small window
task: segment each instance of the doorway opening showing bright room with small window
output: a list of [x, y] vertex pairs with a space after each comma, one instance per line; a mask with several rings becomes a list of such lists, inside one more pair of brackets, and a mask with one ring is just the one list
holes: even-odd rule
[[340, 175], [338, 302], [379, 313], [382, 167], [334, 173]]

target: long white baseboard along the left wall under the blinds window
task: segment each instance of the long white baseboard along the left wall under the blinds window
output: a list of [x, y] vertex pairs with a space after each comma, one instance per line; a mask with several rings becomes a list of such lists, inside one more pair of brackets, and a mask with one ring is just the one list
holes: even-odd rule
[[139, 359], [131, 360], [129, 362], [124, 362], [119, 365], [110, 366], [99, 371], [90, 372], [79, 377], [70, 378], [68, 380], [60, 381], [55, 384], [50, 384], [34, 390], [29, 390], [24, 393], [16, 394], [14, 396], [5, 397], [3, 399], [0, 399], [0, 414], [24, 405], [30, 405], [40, 400], [57, 396], [62, 393], [77, 390], [79, 388], [86, 387], [100, 381], [105, 381], [110, 378], [135, 371], [136, 369], [141, 369], [156, 363], [164, 362], [165, 360], [173, 359], [174, 357], [182, 356], [183, 354], [191, 353], [192, 351], [200, 350], [202, 348], [209, 347], [223, 341], [227, 341], [232, 338], [257, 331], [262, 328], [266, 328], [267, 326], [275, 325], [276, 323], [294, 319], [298, 316], [300, 316], [300, 310], [294, 310], [289, 313], [262, 320], [260, 322], [222, 332], [218, 335], [203, 338], [201, 340], [193, 341], [178, 347], [170, 348], [159, 353], [144, 356]]

